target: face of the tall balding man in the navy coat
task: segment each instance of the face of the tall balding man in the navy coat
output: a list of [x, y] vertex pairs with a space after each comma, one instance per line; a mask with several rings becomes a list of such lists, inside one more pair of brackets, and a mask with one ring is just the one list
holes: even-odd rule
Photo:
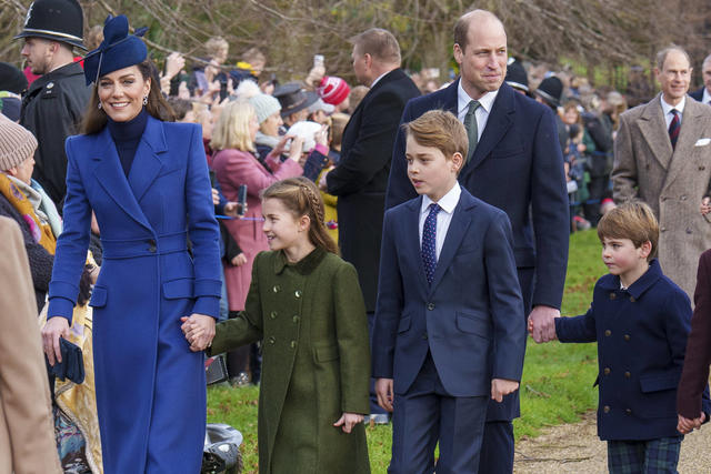
[[472, 19], [467, 46], [454, 44], [462, 87], [472, 99], [501, 87], [507, 75], [507, 33], [498, 21]]

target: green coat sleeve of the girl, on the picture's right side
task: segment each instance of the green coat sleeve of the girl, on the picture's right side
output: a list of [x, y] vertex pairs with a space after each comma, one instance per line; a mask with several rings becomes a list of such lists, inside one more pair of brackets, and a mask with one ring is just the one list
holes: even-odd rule
[[342, 264], [336, 273], [333, 299], [336, 339], [341, 370], [341, 411], [370, 413], [370, 344], [365, 303], [351, 264]]

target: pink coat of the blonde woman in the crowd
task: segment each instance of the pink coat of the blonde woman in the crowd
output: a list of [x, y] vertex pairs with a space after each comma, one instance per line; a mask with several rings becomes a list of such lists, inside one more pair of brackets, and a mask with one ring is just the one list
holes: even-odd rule
[[271, 168], [271, 173], [252, 153], [236, 149], [221, 150], [212, 159], [212, 169], [224, 196], [229, 201], [237, 201], [240, 184], [247, 184], [248, 211], [246, 218], [260, 219], [259, 221], [226, 221], [227, 229], [247, 256], [247, 263], [241, 266], [232, 266], [229, 263], [224, 265], [230, 311], [244, 309], [254, 256], [263, 250], [269, 250], [267, 238], [262, 232], [262, 203], [259, 194], [279, 180], [300, 177], [303, 173], [303, 169], [293, 160], [287, 160], [282, 163], [278, 158], [268, 157], [267, 164]]

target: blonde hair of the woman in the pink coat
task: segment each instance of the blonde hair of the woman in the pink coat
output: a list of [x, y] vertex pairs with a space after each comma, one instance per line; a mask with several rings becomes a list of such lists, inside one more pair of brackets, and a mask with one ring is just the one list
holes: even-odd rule
[[218, 123], [214, 125], [210, 148], [216, 151], [229, 148], [254, 151], [254, 143], [249, 133], [252, 120], [257, 120], [257, 112], [248, 101], [229, 102], [222, 108]]

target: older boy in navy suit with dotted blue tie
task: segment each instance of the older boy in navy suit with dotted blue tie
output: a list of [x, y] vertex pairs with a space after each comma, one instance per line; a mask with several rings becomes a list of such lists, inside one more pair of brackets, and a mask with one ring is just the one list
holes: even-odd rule
[[403, 125], [419, 198], [385, 213], [373, 331], [378, 403], [393, 412], [389, 473], [475, 473], [488, 397], [518, 390], [523, 300], [507, 214], [462, 189], [464, 127]]

